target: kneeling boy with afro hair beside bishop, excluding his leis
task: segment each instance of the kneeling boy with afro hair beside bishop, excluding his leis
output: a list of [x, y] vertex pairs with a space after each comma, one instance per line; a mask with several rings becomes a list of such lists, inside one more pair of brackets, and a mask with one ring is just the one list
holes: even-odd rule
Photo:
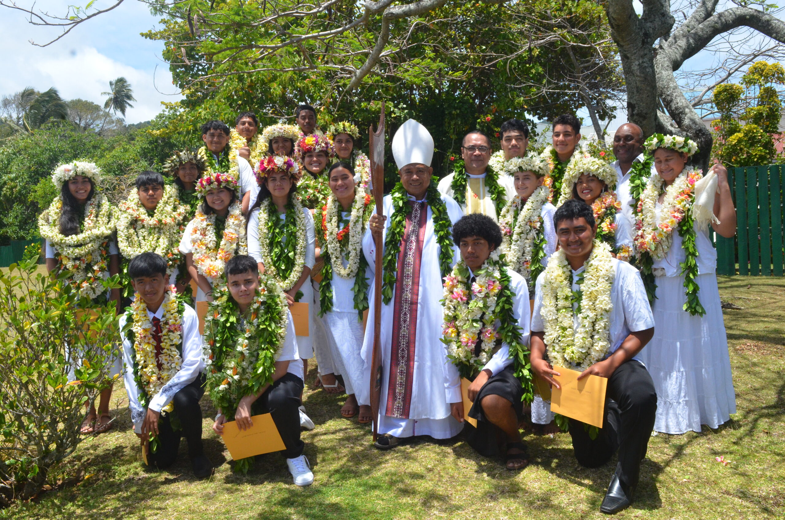
[[[491, 218], [483, 214], [469, 214], [461, 218], [452, 229], [453, 240], [461, 250], [461, 258], [469, 268], [466, 280], [466, 292], [469, 300], [473, 295], [475, 273], [483, 269], [484, 263], [493, 251], [502, 245], [502, 229]], [[498, 309], [498, 298], [503, 291], [509, 290], [512, 295], [512, 322], [520, 334], [520, 345], [529, 342], [529, 291], [523, 276], [512, 269], [506, 269], [509, 283], [502, 285], [495, 296], [493, 306]], [[500, 271], [501, 273], [501, 271]], [[479, 275], [478, 275], [479, 276]], [[504, 275], [500, 284], [504, 284]], [[489, 300], [490, 303], [490, 300]], [[496, 327], [501, 330], [502, 324], [497, 320]], [[458, 330], [458, 335], [463, 331]], [[498, 332], [497, 332], [498, 334]], [[517, 341], [513, 339], [513, 341]], [[477, 339], [474, 355], [480, 355], [483, 339]], [[477, 426], [465, 427], [466, 440], [480, 455], [496, 456], [499, 454], [499, 441], [503, 441], [506, 449], [502, 452], [508, 470], [520, 470], [528, 464], [526, 445], [520, 438], [518, 422], [523, 416], [523, 387], [515, 376], [513, 357], [510, 356], [509, 345], [502, 338], [496, 339], [495, 351], [490, 360], [479, 373], [473, 375], [469, 385], [468, 397], [473, 402], [470, 410], [460, 408], [459, 419], [469, 416], [476, 419]], [[501, 430], [501, 435], [497, 433]], [[501, 437], [501, 438], [498, 438]]]

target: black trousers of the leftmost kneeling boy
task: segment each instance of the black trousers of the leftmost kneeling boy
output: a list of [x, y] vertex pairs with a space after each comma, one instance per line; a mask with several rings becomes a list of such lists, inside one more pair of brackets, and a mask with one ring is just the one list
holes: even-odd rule
[[172, 427], [171, 414], [161, 416], [158, 423], [158, 449], [155, 453], [148, 453], [148, 464], [159, 469], [170, 467], [177, 460], [177, 451], [180, 449], [180, 439], [188, 441], [188, 456], [202, 455], [202, 408], [199, 408], [199, 399], [204, 395], [205, 377], [202, 374], [192, 383], [181, 388], [174, 394], [174, 415], [177, 416], [179, 429]]

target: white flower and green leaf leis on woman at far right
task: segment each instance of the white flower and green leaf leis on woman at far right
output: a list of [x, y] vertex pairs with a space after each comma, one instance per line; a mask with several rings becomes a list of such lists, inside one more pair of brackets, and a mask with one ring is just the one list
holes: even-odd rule
[[695, 239], [695, 220], [692, 216], [692, 203], [695, 201], [695, 183], [703, 178], [701, 170], [686, 167], [673, 183], [665, 189], [661, 214], [661, 222], [657, 222], [656, 204], [663, 192], [664, 180], [659, 175], [652, 175], [641, 200], [636, 208], [635, 247], [638, 262], [641, 264], [641, 274], [649, 301], [653, 301], [656, 284], [652, 272], [654, 260], [665, 258], [670, 246], [673, 244], [674, 229], [678, 229], [683, 238], [682, 247], [685, 250], [685, 261], [681, 262], [681, 274], [685, 276], [685, 302], [684, 309], [692, 316], [703, 316], [706, 310], [698, 298], [699, 287], [695, 279], [698, 276], [696, 258], [698, 250]]

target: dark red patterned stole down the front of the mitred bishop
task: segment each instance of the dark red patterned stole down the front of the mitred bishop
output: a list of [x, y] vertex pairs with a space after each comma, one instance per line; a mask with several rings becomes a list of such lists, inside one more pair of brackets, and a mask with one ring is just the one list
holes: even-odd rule
[[420, 288], [422, 243], [428, 206], [409, 201], [411, 213], [406, 217], [396, 274], [395, 302], [392, 319], [392, 348], [387, 386], [385, 416], [409, 418], [411, 385], [414, 380], [414, 343], [417, 339], [417, 303]]

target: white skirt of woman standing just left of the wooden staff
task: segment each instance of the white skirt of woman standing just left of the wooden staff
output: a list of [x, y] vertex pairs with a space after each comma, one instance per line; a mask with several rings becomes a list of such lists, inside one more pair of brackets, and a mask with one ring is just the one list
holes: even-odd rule
[[[371, 372], [366, 372], [363, 350], [363, 322], [357, 313], [331, 311], [322, 318], [334, 353], [342, 362], [346, 394], [354, 394], [359, 405], [371, 404]], [[336, 361], [338, 361], [336, 359]]]

